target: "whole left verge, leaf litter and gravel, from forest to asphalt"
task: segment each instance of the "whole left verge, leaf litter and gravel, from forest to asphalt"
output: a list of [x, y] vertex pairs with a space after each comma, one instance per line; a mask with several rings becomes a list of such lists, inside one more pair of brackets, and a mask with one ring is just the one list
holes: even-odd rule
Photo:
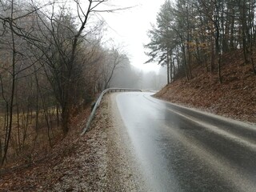
[[114, 111], [106, 95], [85, 135], [80, 136], [88, 111], [48, 158], [0, 171], [0, 191], [147, 191], [134, 175]]

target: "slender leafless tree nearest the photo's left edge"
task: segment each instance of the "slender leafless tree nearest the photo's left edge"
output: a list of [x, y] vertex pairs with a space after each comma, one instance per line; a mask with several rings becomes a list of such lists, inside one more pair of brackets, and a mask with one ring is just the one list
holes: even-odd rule
[[[29, 17], [35, 10], [18, 11], [18, 5], [14, 0], [10, 2], [2, 2], [2, 14], [0, 15], [0, 21], [2, 22], [2, 35], [5, 34], [6, 41], [5, 46], [10, 54], [10, 63], [2, 67], [2, 74], [7, 73], [7, 77], [10, 77], [10, 92], [8, 96], [4, 96], [4, 86], [2, 85], [2, 96], [6, 101], [6, 136], [4, 141], [4, 151], [1, 164], [6, 161], [6, 154], [9, 149], [10, 138], [13, 128], [14, 118], [14, 98], [18, 74], [22, 71], [30, 68], [34, 63], [26, 66], [22, 63], [22, 58], [26, 57], [23, 54], [22, 45], [24, 40], [26, 41], [38, 41], [32, 35], [28, 34], [26, 30], [22, 28], [21, 20]], [[27, 27], [30, 30], [31, 26]], [[3, 42], [2, 42], [3, 43]], [[2, 76], [2, 74], [0, 74]], [[2, 83], [2, 77], [1, 77]]]

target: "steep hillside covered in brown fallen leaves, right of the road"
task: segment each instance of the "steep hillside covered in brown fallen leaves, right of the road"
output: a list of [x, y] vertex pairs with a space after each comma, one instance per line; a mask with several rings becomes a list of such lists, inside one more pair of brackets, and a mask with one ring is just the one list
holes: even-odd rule
[[218, 74], [206, 72], [204, 66], [193, 68], [193, 79], [179, 78], [154, 96], [214, 114], [256, 122], [256, 75], [251, 64], [244, 63], [241, 50], [222, 56], [222, 84], [218, 82]]

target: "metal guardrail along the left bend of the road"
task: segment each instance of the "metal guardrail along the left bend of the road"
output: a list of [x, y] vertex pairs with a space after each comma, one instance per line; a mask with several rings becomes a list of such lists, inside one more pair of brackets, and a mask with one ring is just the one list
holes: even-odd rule
[[103, 90], [102, 94], [100, 94], [100, 96], [98, 97], [97, 102], [95, 102], [95, 104], [94, 104], [94, 109], [91, 111], [90, 117], [88, 118], [88, 120], [86, 122], [86, 127], [82, 130], [81, 135], [85, 134], [86, 130], [89, 129], [90, 123], [94, 119], [94, 115], [96, 114], [96, 110], [97, 110], [99, 104], [101, 103], [103, 96], [107, 93], [113, 93], [113, 92], [142, 92], [142, 90], [126, 89], [126, 88], [109, 88], [109, 89]]

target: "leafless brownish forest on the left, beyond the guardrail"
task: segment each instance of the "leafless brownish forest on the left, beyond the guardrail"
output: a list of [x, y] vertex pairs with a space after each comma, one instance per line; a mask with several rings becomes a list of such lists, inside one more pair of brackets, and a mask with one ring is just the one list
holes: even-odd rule
[[[129, 68], [104, 42], [106, 1], [0, 1], [0, 164], [24, 158], [70, 130], [70, 118]], [[119, 10], [119, 9], [117, 9]], [[122, 10], [122, 9], [120, 9]]]

